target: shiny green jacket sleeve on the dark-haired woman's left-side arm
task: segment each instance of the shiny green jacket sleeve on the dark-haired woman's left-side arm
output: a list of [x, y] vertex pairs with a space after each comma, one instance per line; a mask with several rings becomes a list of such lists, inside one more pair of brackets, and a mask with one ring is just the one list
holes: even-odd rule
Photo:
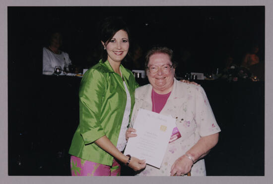
[[82, 78], [79, 89], [79, 127], [84, 144], [105, 135], [100, 124], [101, 104], [106, 81], [101, 72], [89, 69]]

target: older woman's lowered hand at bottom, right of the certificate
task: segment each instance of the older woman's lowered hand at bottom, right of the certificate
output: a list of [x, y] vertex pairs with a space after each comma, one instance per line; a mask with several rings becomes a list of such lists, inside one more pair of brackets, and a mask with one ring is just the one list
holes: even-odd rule
[[193, 161], [186, 155], [179, 157], [171, 167], [171, 176], [187, 175], [193, 166]]

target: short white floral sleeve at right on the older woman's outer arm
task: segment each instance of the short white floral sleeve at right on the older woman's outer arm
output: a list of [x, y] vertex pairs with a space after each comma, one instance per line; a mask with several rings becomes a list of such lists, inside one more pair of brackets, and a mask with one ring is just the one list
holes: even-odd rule
[[202, 87], [199, 87], [197, 90], [196, 109], [197, 129], [201, 137], [220, 132], [220, 128], [215, 120], [205, 91]]

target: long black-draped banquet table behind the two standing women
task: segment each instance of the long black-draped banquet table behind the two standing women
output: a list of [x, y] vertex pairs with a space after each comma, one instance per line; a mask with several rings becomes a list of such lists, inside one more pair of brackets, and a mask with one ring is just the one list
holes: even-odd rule
[[[41, 75], [23, 81], [10, 80], [8, 87], [8, 174], [69, 176], [81, 78]], [[221, 128], [218, 144], [205, 157], [207, 175], [263, 176], [264, 82], [196, 82]]]

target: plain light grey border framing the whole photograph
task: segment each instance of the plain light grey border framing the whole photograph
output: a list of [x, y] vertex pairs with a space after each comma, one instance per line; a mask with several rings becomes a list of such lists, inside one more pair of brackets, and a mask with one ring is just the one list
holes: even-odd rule
[[[191, 5], [191, 6], [209, 6], [209, 5], [265, 5], [266, 9], [266, 33], [265, 33], [265, 177], [28, 177], [28, 176], [8, 176], [7, 160], [7, 6], [171, 6], [171, 5]], [[273, 125], [271, 122], [273, 114], [273, 92], [272, 76], [273, 71], [273, 2], [272, 0], [1, 0], [0, 6], [0, 155], [2, 162], [0, 164], [0, 182], [4, 184], [90, 184], [90, 183], [117, 183], [117, 184], [138, 184], [138, 183], [207, 183], [207, 184], [270, 184], [273, 181]], [[263, 123], [263, 122], [261, 122]], [[259, 126], [259, 125], [257, 125]], [[252, 136], [252, 135], [250, 135]], [[250, 153], [251, 154], [251, 153]], [[223, 158], [224, 159], [224, 158]], [[257, 158], [259, 159], [259, 158]], [[259, 169], [259, 168], [257, 168]], [[183, 181], [182, 181], [183, 180]]]

